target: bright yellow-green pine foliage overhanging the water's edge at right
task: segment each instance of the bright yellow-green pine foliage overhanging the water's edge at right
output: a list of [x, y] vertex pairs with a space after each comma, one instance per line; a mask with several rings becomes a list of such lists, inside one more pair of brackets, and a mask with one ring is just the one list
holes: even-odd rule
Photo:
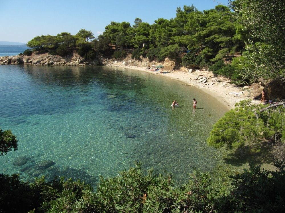
[[213, 126], [207, 139], [208, 145], [239, 147], [242, 151], [246, 143], [255, 148], [264, 138], [277, 143], [284, 141], [283, 105], [262, 109], [262, 105], [252, 105], [250, 100], [244, 100], [236, 106], [235, 109], [226, 112]]

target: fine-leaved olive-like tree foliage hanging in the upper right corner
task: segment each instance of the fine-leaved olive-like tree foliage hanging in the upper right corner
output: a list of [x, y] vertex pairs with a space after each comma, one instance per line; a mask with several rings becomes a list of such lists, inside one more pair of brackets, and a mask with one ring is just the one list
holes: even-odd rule
[[236, 19], [250, 35], [249, 40], [245, 40], [248, 62], [240, 71], [243, 79], [251, 83], [258, 78], [284, 81], [284, 3], [278, 0], [236, 0], [231, 5]]

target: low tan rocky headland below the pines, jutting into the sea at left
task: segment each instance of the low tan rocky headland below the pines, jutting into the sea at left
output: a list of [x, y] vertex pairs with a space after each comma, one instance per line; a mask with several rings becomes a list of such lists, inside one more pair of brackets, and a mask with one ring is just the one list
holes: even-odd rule
[[59, 55], [49, 55], [48, 53], [33, 53], [31, 56], [16, 55], [0, 57], [0, 64], [34, 64], [34, 65], [61, 65], [61, 66], [83, 66], [83, 65], [99, 65], [97, 59], [84, 60], [76, 52], [69, 57], [61, 57]]

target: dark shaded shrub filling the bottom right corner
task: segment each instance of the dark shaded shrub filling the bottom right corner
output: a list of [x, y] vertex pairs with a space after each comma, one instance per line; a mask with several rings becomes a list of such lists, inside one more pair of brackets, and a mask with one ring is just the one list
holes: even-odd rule
[[234, 189], [224, 208], [229, 212], [284, 212], [284, 165], [273, 165], [278, 168], [275, 172], [250, 165], [250, 170], [231, 176]]

